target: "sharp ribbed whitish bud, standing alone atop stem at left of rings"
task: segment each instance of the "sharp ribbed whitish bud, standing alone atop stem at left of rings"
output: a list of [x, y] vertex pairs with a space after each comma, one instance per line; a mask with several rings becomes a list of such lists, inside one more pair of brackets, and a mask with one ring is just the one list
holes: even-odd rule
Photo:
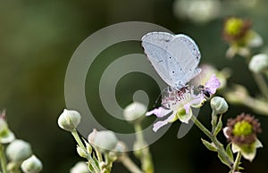
[[73, 131], [80, 124], [80, 113], [78, 111], [69, 111], [64, 109], [58, 119], [58, 125], [66, 131]]

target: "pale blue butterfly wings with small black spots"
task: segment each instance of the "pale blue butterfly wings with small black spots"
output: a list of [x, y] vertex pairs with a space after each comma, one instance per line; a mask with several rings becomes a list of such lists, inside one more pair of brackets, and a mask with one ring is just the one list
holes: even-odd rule
[[169, 86], [180, 89], [201, 71], [197, 68], [200, 52], [188, 36], [151, 32], [142, 37], [142, 46], [159, 76]]

